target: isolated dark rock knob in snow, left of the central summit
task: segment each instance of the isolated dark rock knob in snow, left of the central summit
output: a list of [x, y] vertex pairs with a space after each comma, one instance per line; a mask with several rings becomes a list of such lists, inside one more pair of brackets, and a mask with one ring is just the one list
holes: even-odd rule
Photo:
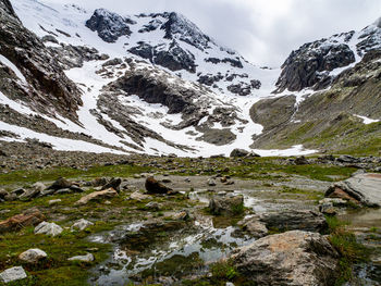
[[107, 42], [115, 42], [122, 36], [130, 36], [128, 25], [131, 24], [135, 24], [135, 22], [105, 9], [97, 9], [93, 16], [86, 21], [86, 27], [97, 32], [98, 36]]

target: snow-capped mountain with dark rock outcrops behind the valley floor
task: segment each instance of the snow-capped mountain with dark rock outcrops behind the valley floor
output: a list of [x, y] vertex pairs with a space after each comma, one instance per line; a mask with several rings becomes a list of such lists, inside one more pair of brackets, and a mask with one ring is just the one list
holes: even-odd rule
[[[12, 114], [0, 117], [0, 139], [37, 138], [60, 150], [190, 157], [251, 150], [269, 132], [262, 117], [253, 114], [256, 102], [293, 94], [290, 110], [295, 113], [314, 89], [330, 87], [381, 43], [377, 22], [358, 33], [306, 43], [282, 69], [261, 69], [175, 12], [124, 15], [37, 0], [0, 3], [2, 20], [13, 25], [4, 35], [13, 30], [16, 39], [8, 43], [8, 52], [0, 48], [0, 67], [8, 69], [8, 79], [0, 80], [0, 107]], [[12, 57], [10, 50], [20, 51], [23, 45], [22, 35], [35, 43], [19, 53], [39, 69]], [[44, 66], [44, 61], [50, 64]], [[40, 86], [36, 70], [58, 88]], [[63, 99], [73, 105], [64, 109]], [[45, 102], [49, 108], [44, 109]], [[298, 145], [254, 151], [314, 150]]]

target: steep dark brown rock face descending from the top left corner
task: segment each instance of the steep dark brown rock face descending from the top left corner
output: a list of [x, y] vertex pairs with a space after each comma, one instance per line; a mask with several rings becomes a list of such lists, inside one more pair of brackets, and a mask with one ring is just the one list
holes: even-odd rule
[[72, 119], [82, 104], [81, 92], [63, 73], [50, 51], [14, 14], [8, 0], [0, 1], [0, 54], [25, 76], [28, 88], [0, 79], [0, 90], [13, 98], [29, 102], [42, 113], [61, 113]]

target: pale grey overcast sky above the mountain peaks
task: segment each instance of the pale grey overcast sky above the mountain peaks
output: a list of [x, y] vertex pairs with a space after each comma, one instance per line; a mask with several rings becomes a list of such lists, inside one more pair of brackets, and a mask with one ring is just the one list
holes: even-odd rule
[[218, 42], [259, 65], [279, 66], [293, 49], [381, 16], [381, 0], [42, 0], [120, 14], [181, 12]]

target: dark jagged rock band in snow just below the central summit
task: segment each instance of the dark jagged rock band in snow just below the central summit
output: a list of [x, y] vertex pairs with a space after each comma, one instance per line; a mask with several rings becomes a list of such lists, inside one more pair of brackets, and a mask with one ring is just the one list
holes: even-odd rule
[[182, 49], [176, 41], [172, 41], [168, 50], [162, 50], [160, 46], [152, 47], [148, 43], [139, 42], [139, 46], [128, 51], [174, 72], [180, 70], [190, 73], [196, 72], [195, 55]]

